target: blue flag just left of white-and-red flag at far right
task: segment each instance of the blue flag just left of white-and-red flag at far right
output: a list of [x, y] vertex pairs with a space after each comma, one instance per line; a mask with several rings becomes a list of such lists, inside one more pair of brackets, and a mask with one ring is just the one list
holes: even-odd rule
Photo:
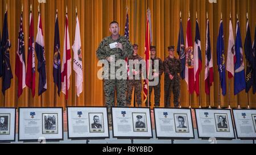
[[226, 73], [225, 73], [225, 53], [224, 53], [224, 33], [223, 33], [223, 23], [222, 19], [220, 22], [220, 30], [218, 32], [218, 41], [217, 41], [217, 64], [218, 64], [218, 73], [220, 75], [220, 83], [222, 89], [222, 95], [226, 95]]

